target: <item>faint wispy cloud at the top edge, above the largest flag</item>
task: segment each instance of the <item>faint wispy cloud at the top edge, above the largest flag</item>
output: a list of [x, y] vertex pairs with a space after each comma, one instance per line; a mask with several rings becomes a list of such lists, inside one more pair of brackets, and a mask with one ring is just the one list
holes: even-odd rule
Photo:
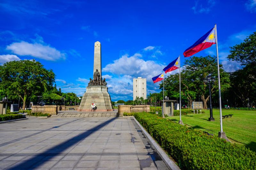
[[[205, 4], [207, 3], [207, 4]], [[194, 13], [209, 13], [212, 10], [212, 7], [216, 4], [215, 0], [197, 0], [195, 1], [195, 6], [192, 7]]]

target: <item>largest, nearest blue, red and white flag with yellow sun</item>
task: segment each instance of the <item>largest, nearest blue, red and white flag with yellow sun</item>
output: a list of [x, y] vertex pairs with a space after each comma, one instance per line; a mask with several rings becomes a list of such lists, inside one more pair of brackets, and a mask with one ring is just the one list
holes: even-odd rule
[[199, 40], [196, 41], [191, 47], [184, 51], [184, 57], [189, 57], [196, 54], [199, 51], [202, 51], [206, 48], [215, 44], [215, 28], [212, 28], [205, 35], [203, 35]]

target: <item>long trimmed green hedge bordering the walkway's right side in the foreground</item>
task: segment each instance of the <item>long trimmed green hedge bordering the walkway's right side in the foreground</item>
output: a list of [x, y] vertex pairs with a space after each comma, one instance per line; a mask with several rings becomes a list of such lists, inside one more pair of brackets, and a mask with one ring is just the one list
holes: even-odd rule
[[181, 169], [256, 169], [256, 153], [150, 113], [135, 118]]

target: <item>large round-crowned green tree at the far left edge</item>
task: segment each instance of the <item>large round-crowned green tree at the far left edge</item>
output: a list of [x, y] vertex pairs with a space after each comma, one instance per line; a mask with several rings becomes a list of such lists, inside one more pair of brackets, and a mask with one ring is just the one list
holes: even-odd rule
[[50, 89], [55, 74], [35, 60], [10, 61], [0, 66], [0, 87], [8, 96], [19, 96], [25, 109], [27, 98], [32, 94], [43, 93]]

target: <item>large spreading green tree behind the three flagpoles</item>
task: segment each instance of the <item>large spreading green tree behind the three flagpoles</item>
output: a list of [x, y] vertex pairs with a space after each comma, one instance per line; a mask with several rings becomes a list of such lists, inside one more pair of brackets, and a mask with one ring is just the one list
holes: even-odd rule
[[[192, 101], [195, 101], [197, 96], [200, 96], [203, 101], [204, 109], [207, 109], [207, 101], [209, 100], [208, 85], [204, 79], [210, 73], [217, 79], [217, 58], [212, 56], [192, 57], [185, 60], [185, 68], [181, 73], [181, 99], [192, 106]], [[220, 65], [220, 81], [221, 90], [226, 90], [229, 87], [229, 76]], [[160, 89], [163, 88], [163, 83], [160, 84]], [[165, 96], [178, 99], [179, 94], [179, 74], [170, 75], [164, 81]], [[211, 92], [214, 94], [218, 90], [218, 81], [212, 84]]]

